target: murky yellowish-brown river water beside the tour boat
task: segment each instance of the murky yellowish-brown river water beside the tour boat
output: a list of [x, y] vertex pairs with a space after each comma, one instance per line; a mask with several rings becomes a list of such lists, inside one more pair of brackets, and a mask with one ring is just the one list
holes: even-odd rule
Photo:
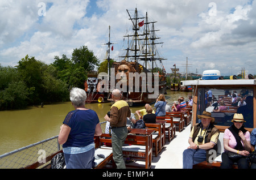
[[[191, 92], [167, 90], [166, 100], [171, 104], [179, 96], [188, 99]], [[154, 104], [151, 106], [154, 107]], [[98, 114], [100, 122], [110, 110], [110, 102], [86, 104], [86, 108], [93, 109]], [[131, 112], [144, 106], [131, 107]], [[22, 148], [26, 145], [59, 135], [60, 126], [65, 116], [74, 110], [71, 102], [44, 105], [43, 108], [31, 106], [24, 110], [0, 111], [0, 155]], [[138, 118], [138, 117], [137, 117]]]

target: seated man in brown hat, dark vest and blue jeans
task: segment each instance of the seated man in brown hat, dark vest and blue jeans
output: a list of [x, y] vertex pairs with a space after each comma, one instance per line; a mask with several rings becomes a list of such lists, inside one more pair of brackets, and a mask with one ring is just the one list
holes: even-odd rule
[[197, 115], [201, 119], [196, 123], [189, 135], [189, 147], [183, 152], [183, 169], [192, 169], [193, 165], [205, 160], [208, 161], [210, 149], [217, 151], [218, 128], [213, 125], [212, 114], [204, 111], [202, 115]]

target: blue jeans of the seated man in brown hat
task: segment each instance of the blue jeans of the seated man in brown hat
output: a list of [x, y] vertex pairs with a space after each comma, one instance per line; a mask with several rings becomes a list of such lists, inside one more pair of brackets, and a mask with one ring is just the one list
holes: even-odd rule
[[206, 160], [204, 149], [185, 149], [183, 152], [183, 169], [192, 169], [194, 164]]

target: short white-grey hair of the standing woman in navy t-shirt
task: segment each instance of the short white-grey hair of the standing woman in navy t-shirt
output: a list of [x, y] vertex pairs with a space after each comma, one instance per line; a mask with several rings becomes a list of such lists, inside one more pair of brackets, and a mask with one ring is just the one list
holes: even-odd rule
[[86, 92], [84, 89], [72, 88], [70, 91], [70, 100], [76, 107], [81, 107], [85, 105]]

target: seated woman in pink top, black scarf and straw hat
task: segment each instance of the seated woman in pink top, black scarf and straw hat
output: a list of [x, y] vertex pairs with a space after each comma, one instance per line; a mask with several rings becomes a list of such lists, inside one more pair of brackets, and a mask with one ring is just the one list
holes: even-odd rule
[[[231, 169], [234, 162], [237, 162], [238, 168], [248, 169], [250, 166], [246, 156], [250, 154], [250, 132], [243, 126], [245, 120], [242, 114], [234, 114], [232, 122], [234, 124], [226, 128], [223, 136], [224, 153], [221, 155], [221, 168]], [[233, 160], [229, 157], [230, 152], [242, 156]]]

